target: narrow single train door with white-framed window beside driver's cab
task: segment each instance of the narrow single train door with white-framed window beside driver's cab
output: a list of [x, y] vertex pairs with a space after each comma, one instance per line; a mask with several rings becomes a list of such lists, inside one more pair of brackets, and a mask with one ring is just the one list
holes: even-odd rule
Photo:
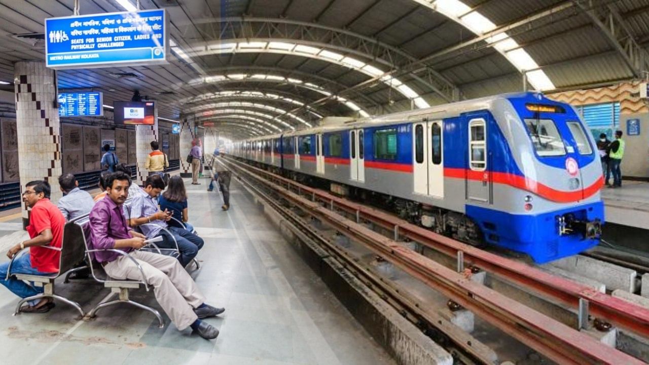
[[491, 179], [487, 168], [487, 116], [472, 116], [468, 129], [469, 171], [467, 171], [467, 199], [489, 203]]

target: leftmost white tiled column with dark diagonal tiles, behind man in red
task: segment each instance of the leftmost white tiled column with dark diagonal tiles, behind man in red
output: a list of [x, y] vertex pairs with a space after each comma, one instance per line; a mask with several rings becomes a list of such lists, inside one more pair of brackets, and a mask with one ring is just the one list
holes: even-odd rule
[[[40, 61], [14, 64], [16, 90], [16, 134], [18, 137], [18, 170], [20, 189], [34, 180], [45, 180], [52, 187], [51, 201], [62, 196], [58, 187], [61, 175], [61, 136], [53, 70]], [[29, 223], [29, 212], [22, 203], [23, 225]]]

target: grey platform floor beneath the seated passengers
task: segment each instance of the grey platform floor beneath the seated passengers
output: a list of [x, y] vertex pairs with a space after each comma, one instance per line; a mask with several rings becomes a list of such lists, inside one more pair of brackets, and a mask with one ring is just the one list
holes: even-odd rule
[[[190, 222], [205, 245], [201, 270], [191, 272], [208, 302], [226, 311], [207, 321], [219, 331], [203, 340], [178, 331], [162, 313], [165, 327], [138, 308], [116, 305], [95, 320], [57, 303], [47, 314], [12, 316], [18, 297], [0, 288], [2, 364], [395, 364], [337, 301], [269, 223], [236, 180], [230, 210], [221, 195], [207, 192], [208, 180], [191, 185]], [[0, 221], [0, 262], [19, 242], [21, 218]], [[56, 291], [90, 310], [108, 290], [94, 281], [58, 283]], [[160, 309], [153, 293], [132, 299]]]

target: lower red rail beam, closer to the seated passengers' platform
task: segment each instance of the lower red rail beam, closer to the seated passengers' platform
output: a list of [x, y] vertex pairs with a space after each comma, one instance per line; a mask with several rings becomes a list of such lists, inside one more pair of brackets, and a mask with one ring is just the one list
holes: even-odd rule
[[[247, 173], [256, 175], [249, 171]], [[257, 177], [257, 180], [262, 184], [265, 183], [308, 214], [366, 245], [413, 277], [457, 301], [485, 321], [553, 361], [560, 364], [644, 364], [641, 360], [622, 351], [605, 346], [588, 334], [576, 331], [491, 288], [474, 283], [398, 242], [348, 220], [330, 209], [333, 208], [332, 206], [325, 208], [313, 200], [305, 199], [300, 194], [292, 192], [290, 186], [300, 185], [300, 193], [301, 190], [311, 192], [312, 199], [315, 196], [313, 189], [305, 189], [306, 186], [290, 181], [288, 188], [284, 188], [262, 177]]]

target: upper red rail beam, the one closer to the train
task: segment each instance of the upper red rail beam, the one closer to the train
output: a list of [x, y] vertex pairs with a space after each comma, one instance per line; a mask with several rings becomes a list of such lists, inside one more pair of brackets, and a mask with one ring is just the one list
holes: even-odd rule
[[294, 186], [302, 192], [308, 192], [312, 195], [313, 200], [317, 198], [321, 201], [326, 201], [330, 205], [335, 204], [341, 210], [345, 210], [351, 214], [358, 214], [360, 218], [376, 223], [386, 229], [392, 230], [397, 227], [396, 229], [400, 236], [407, 237], [410, 240], [426, 245], [426, 247], [435, 249], [450, 257], [456, 258], [458, 257], [458, 252], [461, 252], [467, 266], [477, 266], [512, 283], [519, 284], [534, 292], [560, 301], [575, 310], [579, 308], [580, 299], [587, 300], [589, 302], [589, 311], [596, 318], [609, 321], [617, 327], [649, 338], [649, 310], [646, 308], [598, 292], [589, 286], [546, 273], [522, 262], [509, 260], [508, 258], [500, 257], [472, 245], [463, 244], [447, 236], [400, 220], [392, 214], [347, 201], [328, 192], [311, 188], [265, 170], [252, 166], [250, 168], [286, 186]]

